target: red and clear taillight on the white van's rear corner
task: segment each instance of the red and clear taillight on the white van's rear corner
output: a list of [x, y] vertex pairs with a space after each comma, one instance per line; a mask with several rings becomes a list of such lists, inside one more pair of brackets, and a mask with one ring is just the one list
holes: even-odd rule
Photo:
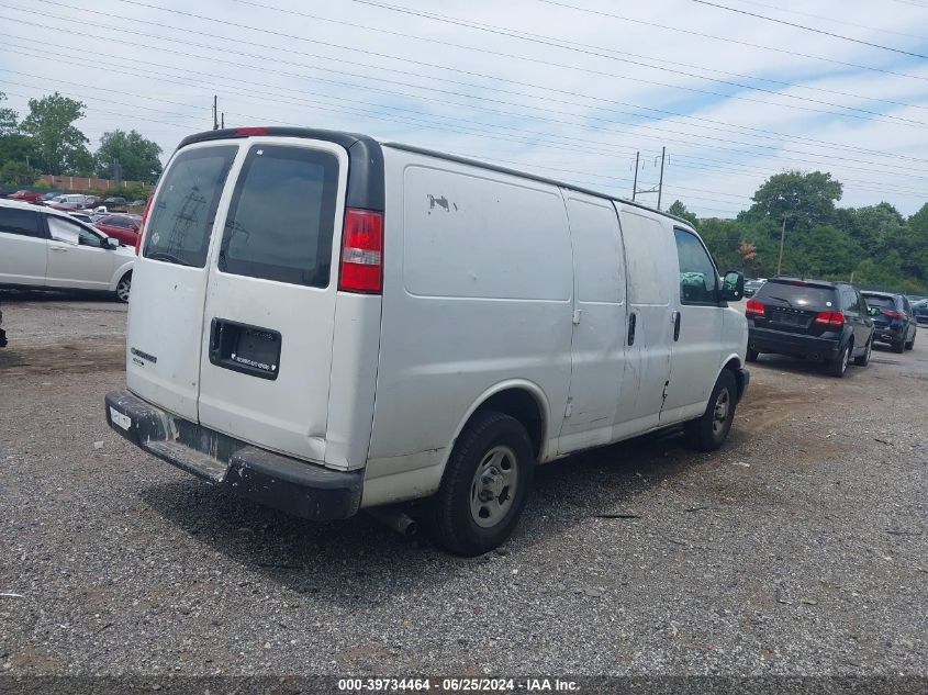
[[383, 289], [383, 213], [345, 211], [338, 289], [369, 294]]

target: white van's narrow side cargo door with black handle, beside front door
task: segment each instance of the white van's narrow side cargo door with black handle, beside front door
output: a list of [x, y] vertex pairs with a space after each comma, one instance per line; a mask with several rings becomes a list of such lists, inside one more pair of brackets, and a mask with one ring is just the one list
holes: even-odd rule
[[658, 426], [670, 382], [677, 259], [672, 232], [662, 220], [630, 205], [619, 208], [628, 313], [614, 439]]

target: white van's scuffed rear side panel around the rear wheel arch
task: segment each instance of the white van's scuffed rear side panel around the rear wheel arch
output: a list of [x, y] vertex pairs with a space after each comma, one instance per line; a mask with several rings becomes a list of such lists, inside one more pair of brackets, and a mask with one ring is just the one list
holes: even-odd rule
[[[557, 187], [389, 147], [384, 165], [366, 506], [434, 492], [463, 418], [506, 382], [537, 386], [557, 436], [570, 382], [573, 276]], [[371, 485], [416, 470], [422, 484], [395, 494]]]

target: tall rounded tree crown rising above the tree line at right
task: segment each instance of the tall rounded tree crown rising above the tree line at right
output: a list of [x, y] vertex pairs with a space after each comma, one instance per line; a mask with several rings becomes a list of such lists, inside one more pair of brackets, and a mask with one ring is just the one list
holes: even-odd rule
[[770, 177], [753, 194], [753, 205], [739, 215], [745, 221], [786, 218], [786, 231], [807, 231], [835, 221], [835, 203], [843, 187], [830, 173], [786, 171]]

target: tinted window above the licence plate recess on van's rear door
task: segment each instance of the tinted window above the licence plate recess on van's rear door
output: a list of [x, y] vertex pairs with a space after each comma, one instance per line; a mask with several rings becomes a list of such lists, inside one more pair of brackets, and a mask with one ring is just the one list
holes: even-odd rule
[[328, 287], [338, 159], [280, 145], [248, 152], [228, 208], [219, 269]]

